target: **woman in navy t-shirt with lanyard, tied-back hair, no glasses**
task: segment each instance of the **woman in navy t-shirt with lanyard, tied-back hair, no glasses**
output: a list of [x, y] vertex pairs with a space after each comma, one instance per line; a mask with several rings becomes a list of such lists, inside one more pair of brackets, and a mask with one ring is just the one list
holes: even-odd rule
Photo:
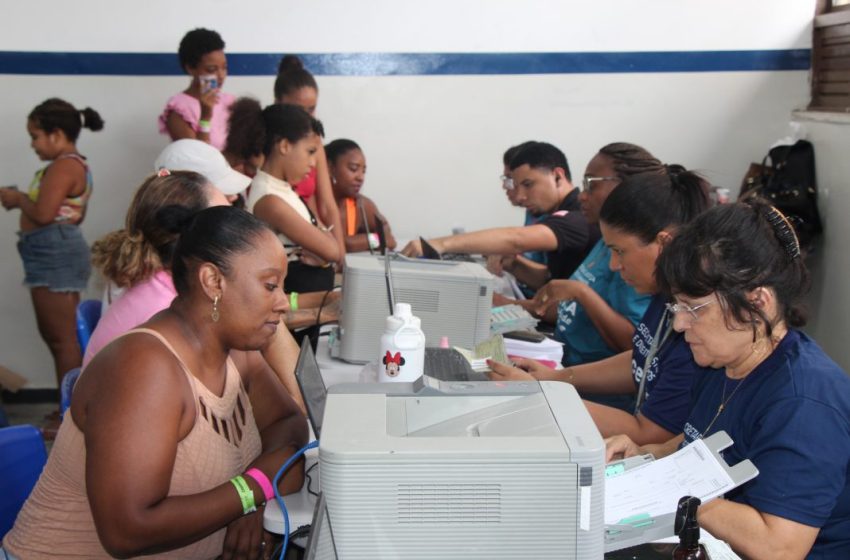
[[631, 349], [597, 362], [554, 370], [517, 359], [519, 368], [492, 363], [494, 380], [540, 379], [572, 383], [584, 394], [636, 395], [635, 413], [586, 402], [604, 436], [628, 434], [644, 443], [667, 441], [690, 411], [691, 383], [700, 366], [687, 342], [672, 329], [667, 298], [659, 294], [655, 263], [678, 229], [710, 205], [708, 183], [681, 166], [668, 174], [626, 177], [599, 213], [610, 267], [652, 300], [632, 337]]

